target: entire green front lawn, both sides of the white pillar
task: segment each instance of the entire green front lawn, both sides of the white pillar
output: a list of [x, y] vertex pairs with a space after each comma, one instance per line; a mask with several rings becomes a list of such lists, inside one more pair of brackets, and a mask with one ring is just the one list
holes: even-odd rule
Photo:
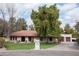
[[[56, 44], [53, 43], [41, 43], [41, 49], [50, 48], [55, 46]], [[34, 43], [13, 43], [13, 42], [6, 42], [5, 47], [8, 50], [29, 50], [34, 48]]]

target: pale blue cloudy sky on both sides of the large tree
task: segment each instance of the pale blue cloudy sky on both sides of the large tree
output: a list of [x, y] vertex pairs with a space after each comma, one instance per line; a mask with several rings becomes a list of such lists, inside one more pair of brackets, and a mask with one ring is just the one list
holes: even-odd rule
[[[47, 6], [53, 5], [54, 3], [46, 3]], [[28, 25], [33, 24], [30, 17], [32, 9], [37, 10], [39, 6], [45, 5], [45, 3], [19, 3], [15, 4], [17, 12], [15, 16], [17, 18], [24, 18]], [[1, 6], [1, 4], [0, 4]], [[79, 21], [79, 4], [78, 3], [57, 3], [57, 8], [59, 9], [59, 19], [63, 28], [66, 24], [73, 27], [77, 21]], [[8, 18], [8, 16], [6, 16]]]

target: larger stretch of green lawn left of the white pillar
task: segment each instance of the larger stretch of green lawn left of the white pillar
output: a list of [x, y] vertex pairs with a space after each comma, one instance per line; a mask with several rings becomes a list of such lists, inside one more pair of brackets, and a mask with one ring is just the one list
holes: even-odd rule
[[34, 48], [34, 43], [13, 43], [13, 42], [6, 42], [5, 47], [8, 50], [22, 50], [22, 49], [33, 49]]

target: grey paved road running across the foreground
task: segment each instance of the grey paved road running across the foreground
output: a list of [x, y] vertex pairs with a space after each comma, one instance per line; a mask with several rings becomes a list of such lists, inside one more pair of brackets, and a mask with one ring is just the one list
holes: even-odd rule
[[0, 56], [79, 56], [79, 51], [55, 51], [55, 50], [32, 50], [32, 51], [8, 51], [0, 52]]

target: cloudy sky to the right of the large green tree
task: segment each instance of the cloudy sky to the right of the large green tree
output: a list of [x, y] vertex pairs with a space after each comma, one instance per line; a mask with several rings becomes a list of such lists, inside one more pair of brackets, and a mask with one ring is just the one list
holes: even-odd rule
[[78, 21], [79, 19], [79, 6], [77, 4], [63, 4], [63, 5], [57, 5], [57, 7], [60, 10], [60, 17], [62, 22], [62, 27], [65, 26], [65, 24], [70, 24], [71, 27], [73, 27], [76, 24], [76, 19]]

